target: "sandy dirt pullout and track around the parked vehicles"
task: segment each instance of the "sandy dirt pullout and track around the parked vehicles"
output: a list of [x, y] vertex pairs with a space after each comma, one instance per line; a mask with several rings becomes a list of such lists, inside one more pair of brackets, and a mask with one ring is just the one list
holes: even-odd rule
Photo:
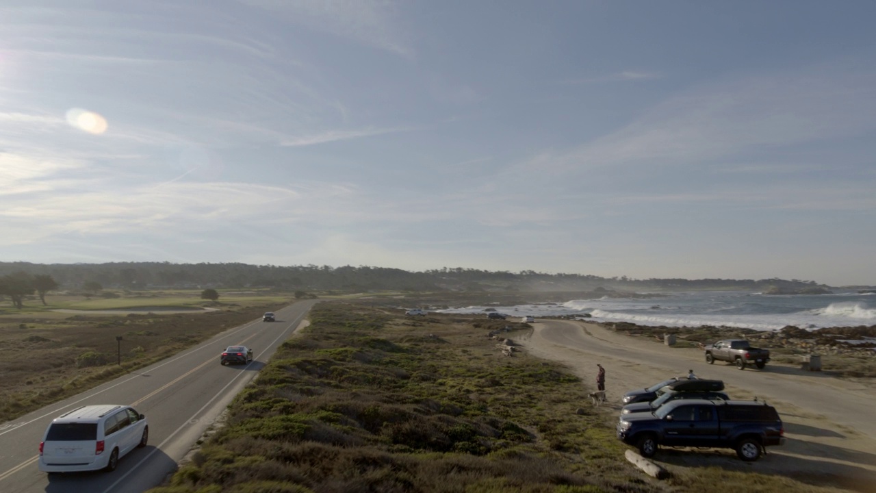
[[770, 447], [757, 462], [740, 461], [730, 449], [661, 449], [654, 459], [667, 468], [717, 466], [876, 492], [876, 386], [872, 382], [772, 364], [763, 371], [739, 371], [722, 362], [708, 365], [698, 349], [666, 347], [596, 324], [546, 320], [533, 326], [519, 344], [534, 356], [562, 362], [588, 387], [596, 389], [596, 364], [604, 366], [609, 402], [603, 409], [611, 419], [618, 416], [626, 391], [693, 369], [701, 378], [724, 380], [733, 398], [767, 400], [785, 424], [786, 445]]

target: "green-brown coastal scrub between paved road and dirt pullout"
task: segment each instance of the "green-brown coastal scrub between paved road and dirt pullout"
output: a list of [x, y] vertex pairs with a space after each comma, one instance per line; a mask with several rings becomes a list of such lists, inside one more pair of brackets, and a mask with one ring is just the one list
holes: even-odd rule
[[527, 325], [401, 313], [315, 306], [225, 425], [150, 493], [841, 491], [709, 467], [658, 482], [625, 461], [616, 416], [587, 386], [487, 337]]

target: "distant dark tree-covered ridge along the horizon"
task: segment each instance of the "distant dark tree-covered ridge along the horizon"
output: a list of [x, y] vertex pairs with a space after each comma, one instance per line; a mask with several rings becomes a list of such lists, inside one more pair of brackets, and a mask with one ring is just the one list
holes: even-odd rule
[[792, 279], [632, 279], [580, 274], [518, 273], [475, 268], [439, 268], [408, 272], [399, 268], [250, 265], [244, 263], [176, 264], [112, 262], [102, 264], [35, 264], [0, 262], [0, 276], [25, 272], [51, 275], [58, 289], [83, 289], [99, 283], [104, 289], [257, 289], [307, 291], [628, 291], [827, 288], [815, 281]]

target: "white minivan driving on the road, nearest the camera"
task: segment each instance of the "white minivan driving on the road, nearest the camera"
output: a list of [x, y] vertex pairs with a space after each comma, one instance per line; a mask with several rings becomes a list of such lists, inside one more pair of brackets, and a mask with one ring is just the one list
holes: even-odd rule
[[87, 405], [52, 420], [39, 444], [46, 473], [113, 471], [118, 460], [149, 439], [146, 417], [127, 405]]

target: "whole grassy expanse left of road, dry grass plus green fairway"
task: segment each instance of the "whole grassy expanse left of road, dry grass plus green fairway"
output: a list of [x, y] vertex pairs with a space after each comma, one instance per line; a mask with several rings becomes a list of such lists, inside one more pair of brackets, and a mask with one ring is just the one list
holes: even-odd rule
[[[4, 309], [0, 315], [0, 348], [20, 358], [0, 360], [0, 422], [95, 387], [118, 375], [192, 347], [231, 327], [260, 318], [265, 311], [290, 303], [290, 297], [221, 297], [219, 302], [200, 299], [200, 291], [152, 293], [142, 297], [92, 300], [50, 296], [48, 307], [25, 304], [25, 310]], [[215, 311], [161, 314], [70, 314], [57, 308], [92, 310], [210, 306]], [[118, 365], [117, 336], [122, 336]]]

